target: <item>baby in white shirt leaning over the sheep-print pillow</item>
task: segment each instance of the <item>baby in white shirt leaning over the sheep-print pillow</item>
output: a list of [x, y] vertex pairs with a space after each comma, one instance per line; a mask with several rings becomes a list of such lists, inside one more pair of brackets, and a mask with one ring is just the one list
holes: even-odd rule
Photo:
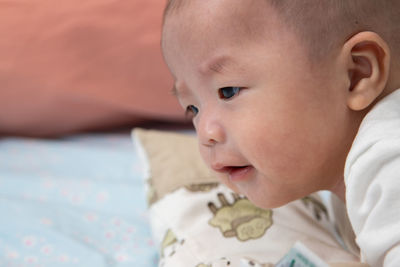
[[318, 190], [400, 266], [400, 1], [175, 0], [162, 49], [202, 157], [263, 208]]

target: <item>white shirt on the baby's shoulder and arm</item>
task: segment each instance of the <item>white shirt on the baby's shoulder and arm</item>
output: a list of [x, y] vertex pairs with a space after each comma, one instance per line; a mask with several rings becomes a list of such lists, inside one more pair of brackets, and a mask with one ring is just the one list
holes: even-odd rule
[[400, 89], [364, 118], [346, 160], [345, 183], [362, 260], [400, 266]]

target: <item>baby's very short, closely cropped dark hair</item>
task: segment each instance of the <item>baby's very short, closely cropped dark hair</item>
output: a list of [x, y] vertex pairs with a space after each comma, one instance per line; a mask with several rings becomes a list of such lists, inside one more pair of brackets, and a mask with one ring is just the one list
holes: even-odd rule
[[[300, 36], [312, 58], [319, 59], [361, 31], [374, 31], [392, 51], [400, 48], [399, 0], [259, 0], [267, 1]], [[168, 0], [165, 17], [190, 0]]]

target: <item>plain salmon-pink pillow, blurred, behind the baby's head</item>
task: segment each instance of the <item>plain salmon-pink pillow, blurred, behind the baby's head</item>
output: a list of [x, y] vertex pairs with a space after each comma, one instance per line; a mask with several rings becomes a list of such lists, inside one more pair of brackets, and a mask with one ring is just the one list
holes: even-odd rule
[[165, 1], [0, 2], [0, 135], [182, 121], [160, 49]]

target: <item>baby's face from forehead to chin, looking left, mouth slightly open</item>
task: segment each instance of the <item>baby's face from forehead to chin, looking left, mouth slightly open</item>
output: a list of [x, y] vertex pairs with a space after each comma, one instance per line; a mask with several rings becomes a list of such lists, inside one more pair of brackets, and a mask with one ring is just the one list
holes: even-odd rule
[[335, 62], [312, 67], [265, 2], [188, 1], [166, 19], [163, 51], [205, 162], [272, 208], [333, 190], [351, 140]]

